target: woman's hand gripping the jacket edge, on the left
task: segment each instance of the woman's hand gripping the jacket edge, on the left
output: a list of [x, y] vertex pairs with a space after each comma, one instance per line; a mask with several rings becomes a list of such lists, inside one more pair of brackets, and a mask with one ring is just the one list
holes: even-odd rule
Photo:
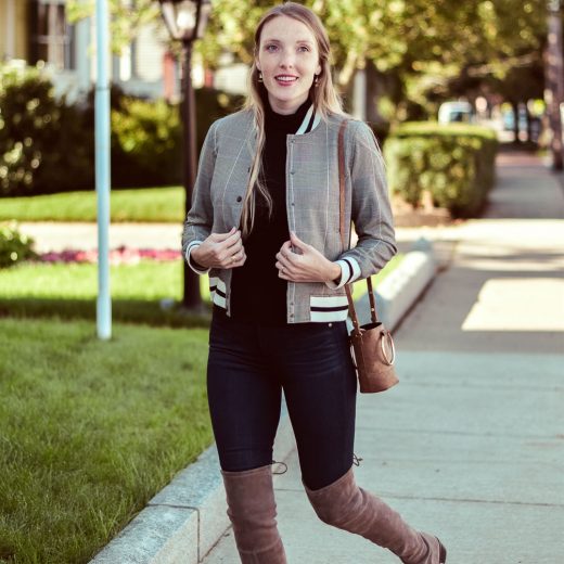
[[211, 233], [190, 256], [204, 268], [242, 267], [246, 254], [241, 231], [232, 228], [229, 233]]

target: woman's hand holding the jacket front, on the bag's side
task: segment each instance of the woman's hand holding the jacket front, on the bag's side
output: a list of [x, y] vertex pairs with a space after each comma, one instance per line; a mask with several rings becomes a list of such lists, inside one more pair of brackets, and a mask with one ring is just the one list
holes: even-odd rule
[[294, 232], [277, 254], [277, 268], [278, 275], [291, 282], [331, 282], [341, 277], [338, 265], [304, 243]]

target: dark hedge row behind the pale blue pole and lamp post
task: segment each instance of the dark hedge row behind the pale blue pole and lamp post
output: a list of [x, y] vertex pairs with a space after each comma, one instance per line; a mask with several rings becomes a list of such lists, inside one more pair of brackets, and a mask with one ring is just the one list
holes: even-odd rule
[[[197, 146], [211, 123], [242, 97], [195, 91]], [[178, 184], [182, 132], [178, 105], [129, 97], [113, 86], [112, 187]], [[94, 94], [81, 104], [56, 98], [40, 68], [0, 64], [0, 196], [94, 188]]]

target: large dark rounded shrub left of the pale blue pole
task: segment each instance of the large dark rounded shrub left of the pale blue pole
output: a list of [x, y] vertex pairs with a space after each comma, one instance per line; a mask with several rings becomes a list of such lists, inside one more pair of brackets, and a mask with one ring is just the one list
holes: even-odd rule
[[93, 140], [84, 125], [39, 68], [0, 65], [0, 195], [91, 185]]

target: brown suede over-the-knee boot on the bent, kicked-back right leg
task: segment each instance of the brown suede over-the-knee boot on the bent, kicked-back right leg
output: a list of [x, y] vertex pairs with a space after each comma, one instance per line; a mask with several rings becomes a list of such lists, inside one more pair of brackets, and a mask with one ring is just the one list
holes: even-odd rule
[[440, 541], [411, 528], [392, 508], [357, 486], [352, 467], [321, 489], [304, 488], [321, 521], [361, 535], [389, 549], [403, 564], [441, 564], [447, 551]]

